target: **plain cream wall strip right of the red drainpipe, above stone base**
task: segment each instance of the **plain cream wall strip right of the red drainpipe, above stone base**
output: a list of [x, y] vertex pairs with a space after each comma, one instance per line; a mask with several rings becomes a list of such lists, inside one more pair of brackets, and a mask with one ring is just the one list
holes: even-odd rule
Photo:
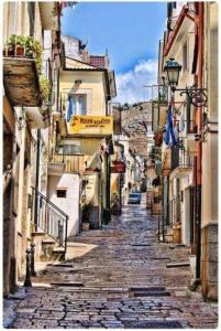
[[[205, 10], [205, 76], [208, 88], [208, 118], [218, 122], [218, 3], [207, 3]], [[202, 142], [202, 227], [218, 222], [218, 134], [208, 132]]]

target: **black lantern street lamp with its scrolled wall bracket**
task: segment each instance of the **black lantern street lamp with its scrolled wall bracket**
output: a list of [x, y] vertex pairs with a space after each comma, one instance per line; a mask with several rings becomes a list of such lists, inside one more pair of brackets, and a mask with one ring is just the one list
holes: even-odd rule
[[181, 71], [181, 65], [179, 65], [174, 58], [169, 58], [166, 62], [164, 71], [167, 74], [168, 84], [172, 87], [172, 92], [180, 90], [180, 95], [186, 94], [189, 98], [190, 104], [196, 107], [206, 107], [208, 102], [208, 96], [206, 88], [198, 88], [196, 85], [186, 88], [177, 88], [179, 81], [179, 73]]

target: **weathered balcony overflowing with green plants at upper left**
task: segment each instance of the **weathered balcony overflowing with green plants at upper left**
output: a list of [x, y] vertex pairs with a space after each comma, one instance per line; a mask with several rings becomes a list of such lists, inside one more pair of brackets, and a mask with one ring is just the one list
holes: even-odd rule
[[3, 84], [13, 106], [48, 103], [52, 83], [43, 75], [43, 47], [33, 36], [11, 34], [3, 46]]

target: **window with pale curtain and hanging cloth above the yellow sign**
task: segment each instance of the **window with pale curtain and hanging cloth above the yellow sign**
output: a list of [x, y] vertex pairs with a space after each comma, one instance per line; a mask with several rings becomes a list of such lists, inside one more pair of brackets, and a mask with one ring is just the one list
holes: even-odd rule
[[69, 95], [67, 102], [67, 121], [74, 115], [87, 115], [87, 96]]

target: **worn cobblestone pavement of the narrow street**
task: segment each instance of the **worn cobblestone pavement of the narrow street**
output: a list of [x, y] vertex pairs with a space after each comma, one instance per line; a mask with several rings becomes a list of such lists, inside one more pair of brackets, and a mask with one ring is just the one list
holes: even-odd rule
[[217, 303], [188, 290], [189, 267], [166, 267], [188, 261], [187, 249], [158, 243], [156, 228], [140, 205], [107, 229], [84, 232], [75, 244], [92, 248], [41, 273], [34, 281], [51, 287], [27, 288], [10, 328], [217, 328]]

